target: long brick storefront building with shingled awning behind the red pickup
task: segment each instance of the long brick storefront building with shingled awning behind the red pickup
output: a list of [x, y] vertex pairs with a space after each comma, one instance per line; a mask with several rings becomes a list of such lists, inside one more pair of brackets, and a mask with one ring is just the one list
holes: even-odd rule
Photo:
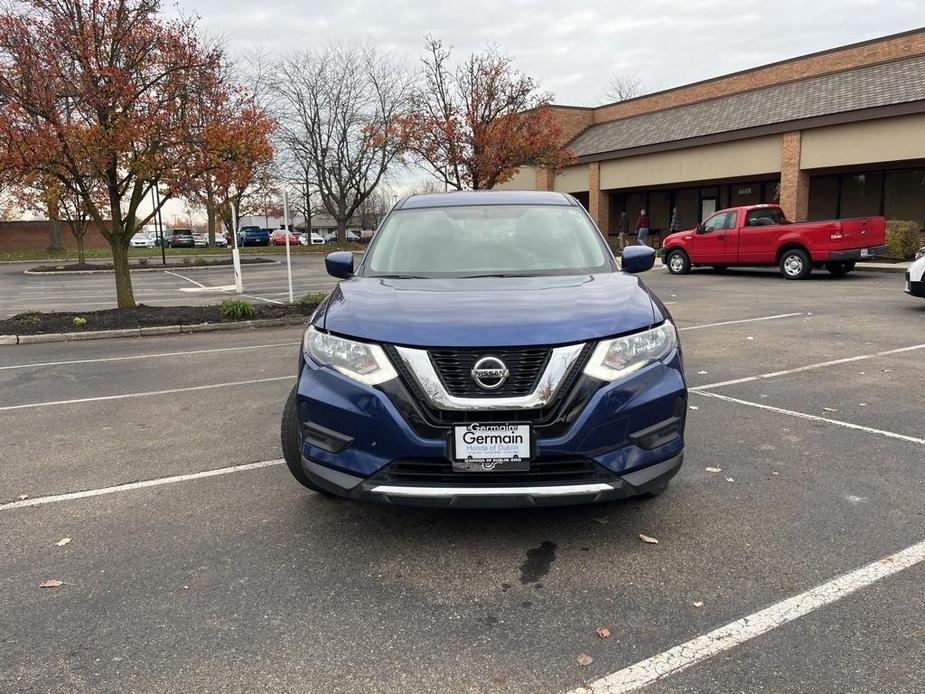
[[732, 205], [790, 219], [882, 214], [925, 227], [925, 29], [595, 108], [555, 106], [576, 163], [502, 188], [573, 194], [614, 233]]

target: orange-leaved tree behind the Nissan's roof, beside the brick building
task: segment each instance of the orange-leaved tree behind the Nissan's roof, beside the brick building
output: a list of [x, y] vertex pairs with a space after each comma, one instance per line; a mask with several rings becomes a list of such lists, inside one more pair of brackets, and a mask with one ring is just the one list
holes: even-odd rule
[[573, 158], [549, 96], [488, 48], [455, 70], [450, 50], [427, 37], [423, 74], [404, 119], [412, 151], [445, 185], [493, 188], [522, 166], [560, 168]]

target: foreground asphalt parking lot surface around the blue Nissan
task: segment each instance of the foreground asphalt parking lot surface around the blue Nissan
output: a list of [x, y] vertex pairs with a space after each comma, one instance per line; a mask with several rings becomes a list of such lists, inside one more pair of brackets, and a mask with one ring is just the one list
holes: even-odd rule
[[298, 329], [0, 348], [0, 688], [925, 691], [925, 301], [646, 281], [693, 389], [649, 501], [307, 492], [279, 460]]

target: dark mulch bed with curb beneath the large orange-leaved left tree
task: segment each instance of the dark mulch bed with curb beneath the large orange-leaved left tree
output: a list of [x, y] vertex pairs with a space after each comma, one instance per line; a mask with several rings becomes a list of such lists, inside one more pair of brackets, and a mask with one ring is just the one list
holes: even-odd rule
[[[246, 320], [308, 316], [314, 303], [287, 305], [254, 305], [256, 313]], [[86, 319], [80, 326], [74, 318]], [[150, 328], [160, 325], [195, 325], [197, 323], [233, 323], [224, 320], [218, 306], [145, 306], [110, 308], [103, 311], [19, 313], [0, 320], [0, 335], [40, 335], [43, 333], [79, 333], [93, 330]]]

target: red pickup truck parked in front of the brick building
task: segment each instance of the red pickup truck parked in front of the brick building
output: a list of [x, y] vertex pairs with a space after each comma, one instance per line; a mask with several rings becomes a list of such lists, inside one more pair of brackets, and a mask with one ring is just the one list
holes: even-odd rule
[[720, 210], [696, 228], [665, 237], [665, 265], [674, 275], [694, 265], [777, 265], [790, 280], [824, 267], [846, 275], [860, 258], [886, 252], [883, 217], [789, 222], [777, 205]]

